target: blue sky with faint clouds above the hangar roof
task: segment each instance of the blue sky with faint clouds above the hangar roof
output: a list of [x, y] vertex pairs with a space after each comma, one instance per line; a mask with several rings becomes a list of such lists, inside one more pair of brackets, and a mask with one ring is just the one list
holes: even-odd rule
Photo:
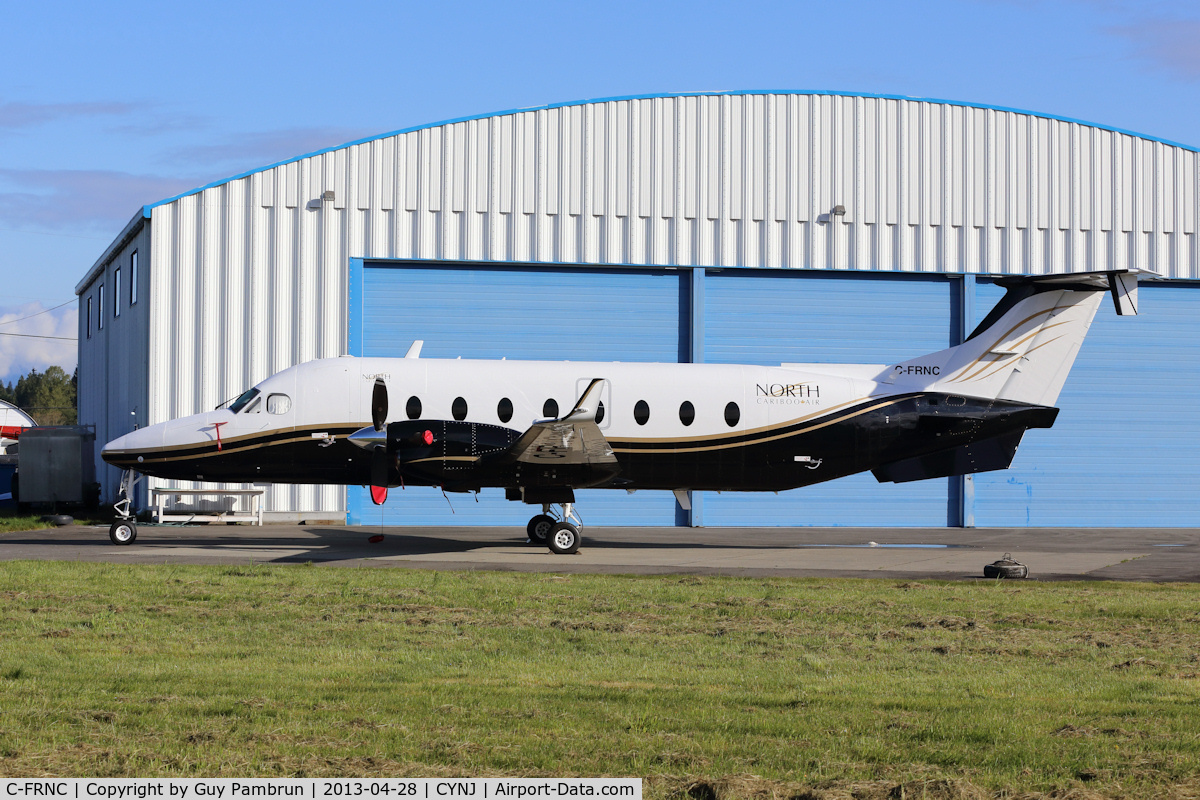
[[46, 2], [4, 22], [0, 333], [26, 336], [0, 335], [0, 380], [74, 367], [73, 342], [29, 336], [74, 336], [74, 284], [143, 204], [444, 119], [828, 89], [1200, 145], [1196, 2]]

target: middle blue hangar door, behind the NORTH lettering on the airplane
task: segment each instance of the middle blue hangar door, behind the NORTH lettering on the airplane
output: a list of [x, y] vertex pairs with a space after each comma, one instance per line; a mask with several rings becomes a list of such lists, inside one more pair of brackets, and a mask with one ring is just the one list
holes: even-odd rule
[[[895, 363], [961, 338], [961, 278], [792, 270], [709, 271], [708, 363]], [[703, 494], [704, 525], [958, 524], [955, 479], [878, 483], [870, 473], [780, 494]]]

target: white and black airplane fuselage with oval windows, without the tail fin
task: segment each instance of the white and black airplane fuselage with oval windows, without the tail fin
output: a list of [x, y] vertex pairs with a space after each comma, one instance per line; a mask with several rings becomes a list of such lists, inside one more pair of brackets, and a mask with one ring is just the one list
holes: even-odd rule
[[[367, 485], [371, 456], [348, 437], [371, 425], [380, 378], [391, 398], [390, 485], [529, 498], [539, 487], [781, 491], [974, 441], [1019, 441], [1055, 414], [930, 391], [928, 375], [887, 366], [341, 357], [284, 369], [233, 408], [130, 433], [104, 459], [164, 479]], [[505, 457], [594, 379], [604, 381], [596, 426], [611, 469], [560, 463], [553, 449]]]

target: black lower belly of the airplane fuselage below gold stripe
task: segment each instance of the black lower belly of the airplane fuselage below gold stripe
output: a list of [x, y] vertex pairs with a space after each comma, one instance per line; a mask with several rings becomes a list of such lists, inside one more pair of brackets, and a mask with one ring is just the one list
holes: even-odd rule
[[[817, 419], [737, 435], [688, 441], [610, 439], [617, 464], [605, 469], [506, 458], [508, 445], [521, 437], [521, 431], [414, 421], [392, 426], [427, 425], [438, 431], [438, 446], [389, 452], [389, 482], [442, 486], [448, 491], [518, 486], [784, 491], [865, 470], [882, 468], [886, 474], [895, 464], [920, 458], [937, 461], [938, 453], [1006, 437], [1016, 437], [1012, 440], [1015, 449], [1021, 433], [1050, 427], [1056, 414], [1057, 409], [1048, 407], [929, 392], [872, 398]], [[307, 431], [272, 432], [227, 443], [220, 451], [210, 443], [143, 453], [142, 462], [137, 461], [138, 453], [122, 453], [109, 463], [186, 481], [365, 486], [371, 482], [371, 453], [344, 438], [355, 429], [322, 427], [334, 438], [332, 444], [314, 439]], [[934, 474], [966, 471], [976, 470], [950, 465]], [[917, 477], [922, 476], [918, 471]]]

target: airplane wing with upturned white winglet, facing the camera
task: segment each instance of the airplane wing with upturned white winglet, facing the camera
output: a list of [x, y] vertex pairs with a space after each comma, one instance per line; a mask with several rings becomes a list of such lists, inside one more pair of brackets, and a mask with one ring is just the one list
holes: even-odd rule
[[617, 457], [596, 425], [602, 386], [602, 378], [594, 379], [569, 414], [558, 420], [534, 422], [509, 447], [509, 459], [527, 464], [614, 467]]

